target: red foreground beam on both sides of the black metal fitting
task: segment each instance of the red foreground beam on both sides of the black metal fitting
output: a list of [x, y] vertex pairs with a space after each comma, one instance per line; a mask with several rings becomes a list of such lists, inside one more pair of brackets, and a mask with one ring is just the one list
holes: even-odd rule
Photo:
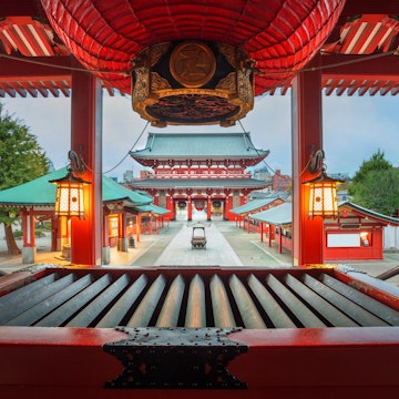
[[[228, 335], [247, 345], [228, 371], [247, 390], [104, 389], [122, 364], [103, 351], [114, 329], [0, 327], [2, 398], [396, 398], [399, 327], [265, 329]], [[172, 360], [171, 360], [172, 361]], [[55, 393], [57, 392], [57, 393]]]

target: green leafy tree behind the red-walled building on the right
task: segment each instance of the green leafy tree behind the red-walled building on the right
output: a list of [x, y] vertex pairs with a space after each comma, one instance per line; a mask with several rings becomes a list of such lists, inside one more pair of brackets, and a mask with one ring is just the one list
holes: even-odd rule
[[369, 161], [362, 162], [348, 192], [360, 206], [383, 215], [396, 215], [399, 209], [399, 170], [378, 150]]

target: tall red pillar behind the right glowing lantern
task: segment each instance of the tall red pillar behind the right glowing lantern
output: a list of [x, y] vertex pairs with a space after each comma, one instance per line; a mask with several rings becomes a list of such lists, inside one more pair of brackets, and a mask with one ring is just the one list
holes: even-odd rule
[[[315, 61], [316, 60], [316, 61]], [[313, 62], [317, 66], [319, 57]], [[323, 263], [323, 219], [308, 218], [309, 175], [306, 164], [313, 151], [323, 149], [321, 73], [300, 72], [293, 81], [293, 264]]]

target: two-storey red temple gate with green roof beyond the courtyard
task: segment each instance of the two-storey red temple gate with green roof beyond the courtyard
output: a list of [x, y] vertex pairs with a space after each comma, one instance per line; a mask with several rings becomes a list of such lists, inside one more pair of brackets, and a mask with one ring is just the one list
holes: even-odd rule
[[205, 209], [208, 221], [234, 221], [231, 209], [267, 186], [246, 170], [268, 153], [254, 146], [249, 133], [149, 133], [145, 149], [130, 154], [153, 173], [132, 188], [150, 193], [155, 205], [171, 211], [171, 219], [177, 211], [191, 221], [193, 209]]

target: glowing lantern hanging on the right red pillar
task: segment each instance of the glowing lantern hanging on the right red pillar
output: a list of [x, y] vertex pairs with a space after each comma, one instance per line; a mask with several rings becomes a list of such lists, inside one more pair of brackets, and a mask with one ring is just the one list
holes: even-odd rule
[[319, 175], [303, 183], [310, 187], [308, 216], [310, 218], [316, 216], [336, 218], [338, 216], [336, 187], [338, 183], [344, 183], [344, 181], [328, 176], [323, 161], [323, 150], [310, 156], [308, 171], [310, 173], [319, 172]]

